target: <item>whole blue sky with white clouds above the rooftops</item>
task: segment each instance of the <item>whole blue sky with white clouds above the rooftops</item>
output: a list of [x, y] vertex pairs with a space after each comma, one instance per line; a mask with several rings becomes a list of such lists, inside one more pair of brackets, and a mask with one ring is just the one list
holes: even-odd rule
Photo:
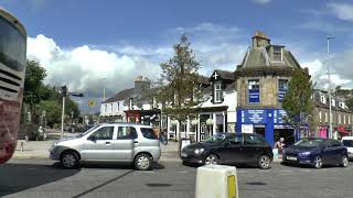
[[[137, 75], [157, 79], [159, 63], [180, 34], [190, 36], [201, 73], [234, 70], [255, 31], [285, 45], [313, 80], [324, 86], [328, 34], [333, 82], [353, 88], [353, 1], [341, 0], [0, 0], [29, 34], [29, 57], [49, 73], [99, 101], [132, 87]], [[352, 70], [352, 72], [351, 72]], [[106, 78], [103, 80], [101, 78]]]

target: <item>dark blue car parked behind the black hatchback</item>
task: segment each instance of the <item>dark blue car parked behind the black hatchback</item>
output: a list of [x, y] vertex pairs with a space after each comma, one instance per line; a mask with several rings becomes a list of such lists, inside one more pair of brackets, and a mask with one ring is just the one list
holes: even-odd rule
[[338, 164], [346, 167], [349, 164], [347, 150], [340, 141], [319, 138], [302, 139], [285, 148], [282, 162], [307, 164], [315, 168]]

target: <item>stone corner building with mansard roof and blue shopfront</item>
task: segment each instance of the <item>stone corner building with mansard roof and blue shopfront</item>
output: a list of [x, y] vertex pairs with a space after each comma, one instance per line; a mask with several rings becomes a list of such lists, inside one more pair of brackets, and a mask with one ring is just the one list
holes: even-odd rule
[[[235, 72], [237, 132], [261, 134], [271, 145], [280, 136], [296, 139], [293, 128], [284, 121], [282, 109], [288, 81], [296, 68], [302, 69], [290, 51], [272, 45], [263, 32], [256, 32]], [[308, 74], [307, 68], [303, 72]]]

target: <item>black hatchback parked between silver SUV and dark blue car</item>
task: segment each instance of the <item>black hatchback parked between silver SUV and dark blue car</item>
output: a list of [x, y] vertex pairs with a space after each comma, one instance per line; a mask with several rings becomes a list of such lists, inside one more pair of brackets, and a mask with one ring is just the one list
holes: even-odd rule
[[274, 154], [261, 135], [217, 133], [205, 142], [185, 146], [181, 158], [183, 163], [256, 164], [260, 168], [269, 168]]

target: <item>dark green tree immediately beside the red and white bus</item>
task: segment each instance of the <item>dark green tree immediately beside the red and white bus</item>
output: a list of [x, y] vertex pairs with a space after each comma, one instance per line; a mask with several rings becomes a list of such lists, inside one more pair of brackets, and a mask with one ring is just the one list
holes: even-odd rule
[[45, 98], [43, 80], [46, 77], [45, 69], [35, 61], [26, 61], [23, 101], [30, 108], [32, 118], [36, 122], [36, 105]]

